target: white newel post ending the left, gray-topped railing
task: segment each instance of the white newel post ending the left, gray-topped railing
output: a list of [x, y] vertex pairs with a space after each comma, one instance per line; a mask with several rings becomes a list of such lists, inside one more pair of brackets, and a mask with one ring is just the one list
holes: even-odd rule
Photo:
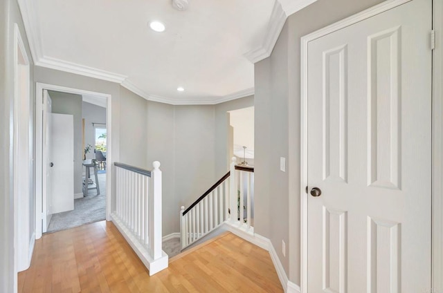
[[162, 219], [161, 219], [161, 171], [160, 162], [152, 163], [154, 170], [151, 172], [151, 184], [149, 193], [149, 242], [151, 257], [156, 260], [161, 258], [161, 238], [162, 238]]

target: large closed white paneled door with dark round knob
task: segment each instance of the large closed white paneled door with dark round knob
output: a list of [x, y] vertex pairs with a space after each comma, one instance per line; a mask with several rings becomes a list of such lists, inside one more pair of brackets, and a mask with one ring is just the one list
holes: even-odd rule
[[309, 293], [431, 287], [431, 5], [308, 44]]

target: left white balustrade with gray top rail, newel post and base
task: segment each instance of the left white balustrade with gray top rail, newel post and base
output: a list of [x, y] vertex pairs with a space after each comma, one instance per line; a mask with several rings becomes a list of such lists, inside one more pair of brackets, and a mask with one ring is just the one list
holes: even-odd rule
[[152, 164], [152, 171], [118, 162], [114, 165], [116, 211], [111, 214], [112, 221], [152, 276], [168, 267], [168, 255], [161, 249], [160, 162]]

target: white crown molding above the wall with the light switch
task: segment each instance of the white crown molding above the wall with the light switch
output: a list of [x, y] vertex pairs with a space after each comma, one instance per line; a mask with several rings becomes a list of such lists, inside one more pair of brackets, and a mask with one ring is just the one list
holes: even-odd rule
[[287, 17], [293, 13], [305, 8], [317, 0], [278, 0], [275, 1], [274, 7], [269, 19], [268, 28], [264, 35], [263, 43], [257, 48], [248, 51], [243, 56], [252, 63], [257, 63], [269, 56], [277, 43], [278, 37], [282, 32]]

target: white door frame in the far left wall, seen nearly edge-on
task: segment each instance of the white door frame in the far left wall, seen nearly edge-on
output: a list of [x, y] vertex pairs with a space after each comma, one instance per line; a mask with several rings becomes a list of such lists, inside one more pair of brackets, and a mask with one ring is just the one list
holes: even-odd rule
[[[19, 55], [23, 58], [20, 64]], [[24, 84], [21, 84], [24, 82]], [[23, 104], [26, 103], [26, 111], [23, 111]], [[31, 257], [33, 255], [35, 243], [35, 231], [30, 227], [30, 195], [34, 194], [33, 187], [33, 135], [30, 133], [32, 129], [32, 104], [30, 101], [30, 62], [20, 29], [17, 23], [14, 23], [14, 116], [13, 116], [13, 186], [14, 186], [14, 286], [17, 290], [17, 272], [27, 270]], [[21, 125], [25, 124], [27, 131], [21, 129]], [[26, 154], [20, 153], [19, 147], [21, 135], [28, 136], [28, 144], [25, 147]], [[27, 167], [22, 167], [26, 164]], [[27, 181], [27, 184], [23, 182]], [[25, 184], [26, 193], [19, 193], [19, 185]], [[21, 205], [18, 205], [18, 202]], [[30, 232], [32, 234], [30, 235]]]

